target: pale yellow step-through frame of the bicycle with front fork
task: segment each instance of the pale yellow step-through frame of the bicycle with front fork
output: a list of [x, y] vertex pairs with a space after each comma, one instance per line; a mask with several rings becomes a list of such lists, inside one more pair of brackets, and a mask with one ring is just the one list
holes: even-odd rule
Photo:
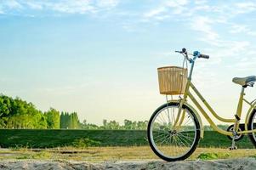
[[[237, 134], [241, 134], [241, 133], [256, 133], [256, 129], [254, 129], [254, 130], [247, 130], [247, 122], [248, 122], [248, 119], [249, 119], [249, 115], [251, 114], [251, 112], [253, 111], [254, 108], [256, 109], [256, 99], [254, 99], [252, 102], [248, 102], [247, 99], [244, 99], [243, 98], [243, 96], [244, 96], [244, 88], [242, 87], [242, 91], [241, 91], [241, 94], [240, 94], [240, 98], [239, 98], [239, 102], [238, 102], [237, 110], [236, 110], [236, 116], [235, 116], [236, 118], [234, 118], [234, 119], [226, 119], [226, 118], [218, 116], [218, 114], [215, 111], [213, 111], [213, 108], [202, 97], [202, 94], [199, 93], [199, 91], [196, 89], [196, 87], [191, 82], [191, 76], [192, 76], [195, 60], [196, 60], [196, 57], [194, 59], [191, 59], [191, 61], [190, 61], [191, 62], [191, 71], [190, 71], [190, 74], [189, 74], [189, 77], [188, 77], [188, 81], [187, 81], [187, 84], [186, 84], [186, 87], [185, 87], [184, 98], [179, 100], [179, 104], [180, 104], [179, 105], [179, 111], [178, 111], [178, 116], [177, 116], [177, 118], [176, 118], [176, 120], [174, 122], [174, 127], [181, 126], [181, 123], [183, 122], [183, 120], [185, 118], [185, 113], [184, 112], [181, 113], [182, 105], [187, 105], [186, 101], [187, 101], [187, 98], [189, 98], [194, 103], [194, 105], [196, 105], [196, 108], [199, 111], [201, 111], [202, 115], [209, 122], [210, 126], [213, 127], [213, 130], [215, 130], [215, 131], [217, 131], [219, 133], [225, 134], [225, 135], [229, 135], [229, 136], [233, 135], [232, 132], [225, 131], [225, 130], [223, 130], [223, 129], [221, 129], [221, 128], [216, 126], [216, 124], [213, 122], [213, 120], [208, 116], [208, 113], [206, 111], [204, 111], [202, 106], [198, 103], [198, 101], [196, 100], [194, 95], [191, 94], [190, 89], [192, 89], [195, 92], [196, 96], [199, 99], [201, 99], [202, 103], [208, 108], [208, 111], [210, 111], [211, 114], [215, 118], [217, 118], [221, 122], [232, 122], [232, 123], [234, 123], [235, 131], [236, 131]], [[177, 102], [177, 100], [173, 100], [173, 101]], [[245, 130], [238, 131], [238, 127], [239, 127], [239, 124], [240, 124], [240, 118], [242, 116], [242, 104], [243, 104], [243, 101], [245, 101], [248, 105], [250, 105], [250, 108], [247, 111], [247, 116], [246, 116], [246, 119], [245, 119]], [[190, 105], [190, 107], [191, 107], [191, 105]], [[195, 111], [195, 109], [193, 109], [193, 111]], [[200, 122], [200, 124], [202, 126], [201, 118], [197, 114], [197, 112], [196, 112], [196, 116], [197, 116], [197, 118], [198, 118], [198, 120], [199, 120], [199, 122]], [[201, 129], [201, 131], [203, 131], [203, 129]], [[203, 133], [201, 133], [201, 138], [203, 138]]]

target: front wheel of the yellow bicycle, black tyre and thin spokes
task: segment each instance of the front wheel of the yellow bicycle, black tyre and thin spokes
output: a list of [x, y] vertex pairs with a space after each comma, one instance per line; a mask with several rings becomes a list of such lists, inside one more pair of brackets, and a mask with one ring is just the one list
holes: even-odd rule
[[148, 124], [151, 149], [165, 161], [185, 160], [196, 150], [200, 139], [200, 125], [195, 113], [186, 105], [182, 106], [180, 114], [178, 111], [179, 103], [162, 105]]

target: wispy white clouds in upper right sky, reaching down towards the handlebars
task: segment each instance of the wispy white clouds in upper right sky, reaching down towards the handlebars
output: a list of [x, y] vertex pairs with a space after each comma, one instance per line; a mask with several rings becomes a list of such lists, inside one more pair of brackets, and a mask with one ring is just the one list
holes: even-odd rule
[[[151, 23], [159, 21], [156, 20], [156, 17], [162, 17], [162, 22], [167, 23], [169, 20], [165, 20], [164, 17], [168, 14], [168, 18], [173, 17], [175, 20], [179, 18], [180, 22], [188, 26], [192, 32], [198, 32], [197, 40], [207, 43], [210, 48], [207, 53], [213, 55], [213, 60], [209, 65], [219, 64], [227, 58], [239, 58], [241, 54], [249, 55], [250, 50], [248, 49], [253, 46], [251, 41], [236, 40], [234, 37], [227, 38], [222, 37], [222, 35], [224, 33], [242, 33], [256, 36], [256, 31], [253, 31], [249, 26], [230, 23], [230, 20], [233, 21], [240, 14], [253, 12], [256, 3], [232, 3], [229, 5], [224, 3], [209, 5], [207, 1], [196, 1], [194, 3], [196, 5], [190, 4], [190, 6], [188, 6], [188, 1], [162, 3], [145, 13], [144, 17], [148, 17]], [[171, 10], [173, 7], [180, 8], [180, 12], [175, 14], [174, 10]], [[242, 13], [242, 10], [247, 12]], [[185, 11], [185, 14], [182, 11]], [[228, 31], [225, 29], [219, 31], [219, 26], [227, 28]], [[206, 68], [203, 67], [202, 69], [205, 70]]]

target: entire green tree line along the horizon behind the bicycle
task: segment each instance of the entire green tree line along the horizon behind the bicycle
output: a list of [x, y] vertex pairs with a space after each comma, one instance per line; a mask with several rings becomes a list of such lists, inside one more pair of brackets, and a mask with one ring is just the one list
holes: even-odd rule
[[[77, 112], [60, 112], [54, 108], [39, 111], [32, 103], [20, 98], [0, 94], [0, 128], [48, 128], [48, 129], [87, 129], [87, 130], [146, 130], [148, 121], [130, 121], [122, 124], [103, 120], [102, 125], [79, 121]], [[227, 129], [228, 125], [218, 125]], [[213, 130], [204, 126], [204, 130]]]

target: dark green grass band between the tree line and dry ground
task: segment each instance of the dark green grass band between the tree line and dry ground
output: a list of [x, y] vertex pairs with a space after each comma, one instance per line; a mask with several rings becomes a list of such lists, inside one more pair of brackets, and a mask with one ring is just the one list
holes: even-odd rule
[[[32, 130], [0, 129], [0, 146], [54, 148], [72, 146], [76, 139], [92, 139], [100, 146], [140, 146], [148, 145], [146, 131], [140, 130]], [[228, 148], [230, 139], [225, 135], [206, 131], [199, 147]], [[253, 148], [247, 136], [236, 142], [238, 148]]]

